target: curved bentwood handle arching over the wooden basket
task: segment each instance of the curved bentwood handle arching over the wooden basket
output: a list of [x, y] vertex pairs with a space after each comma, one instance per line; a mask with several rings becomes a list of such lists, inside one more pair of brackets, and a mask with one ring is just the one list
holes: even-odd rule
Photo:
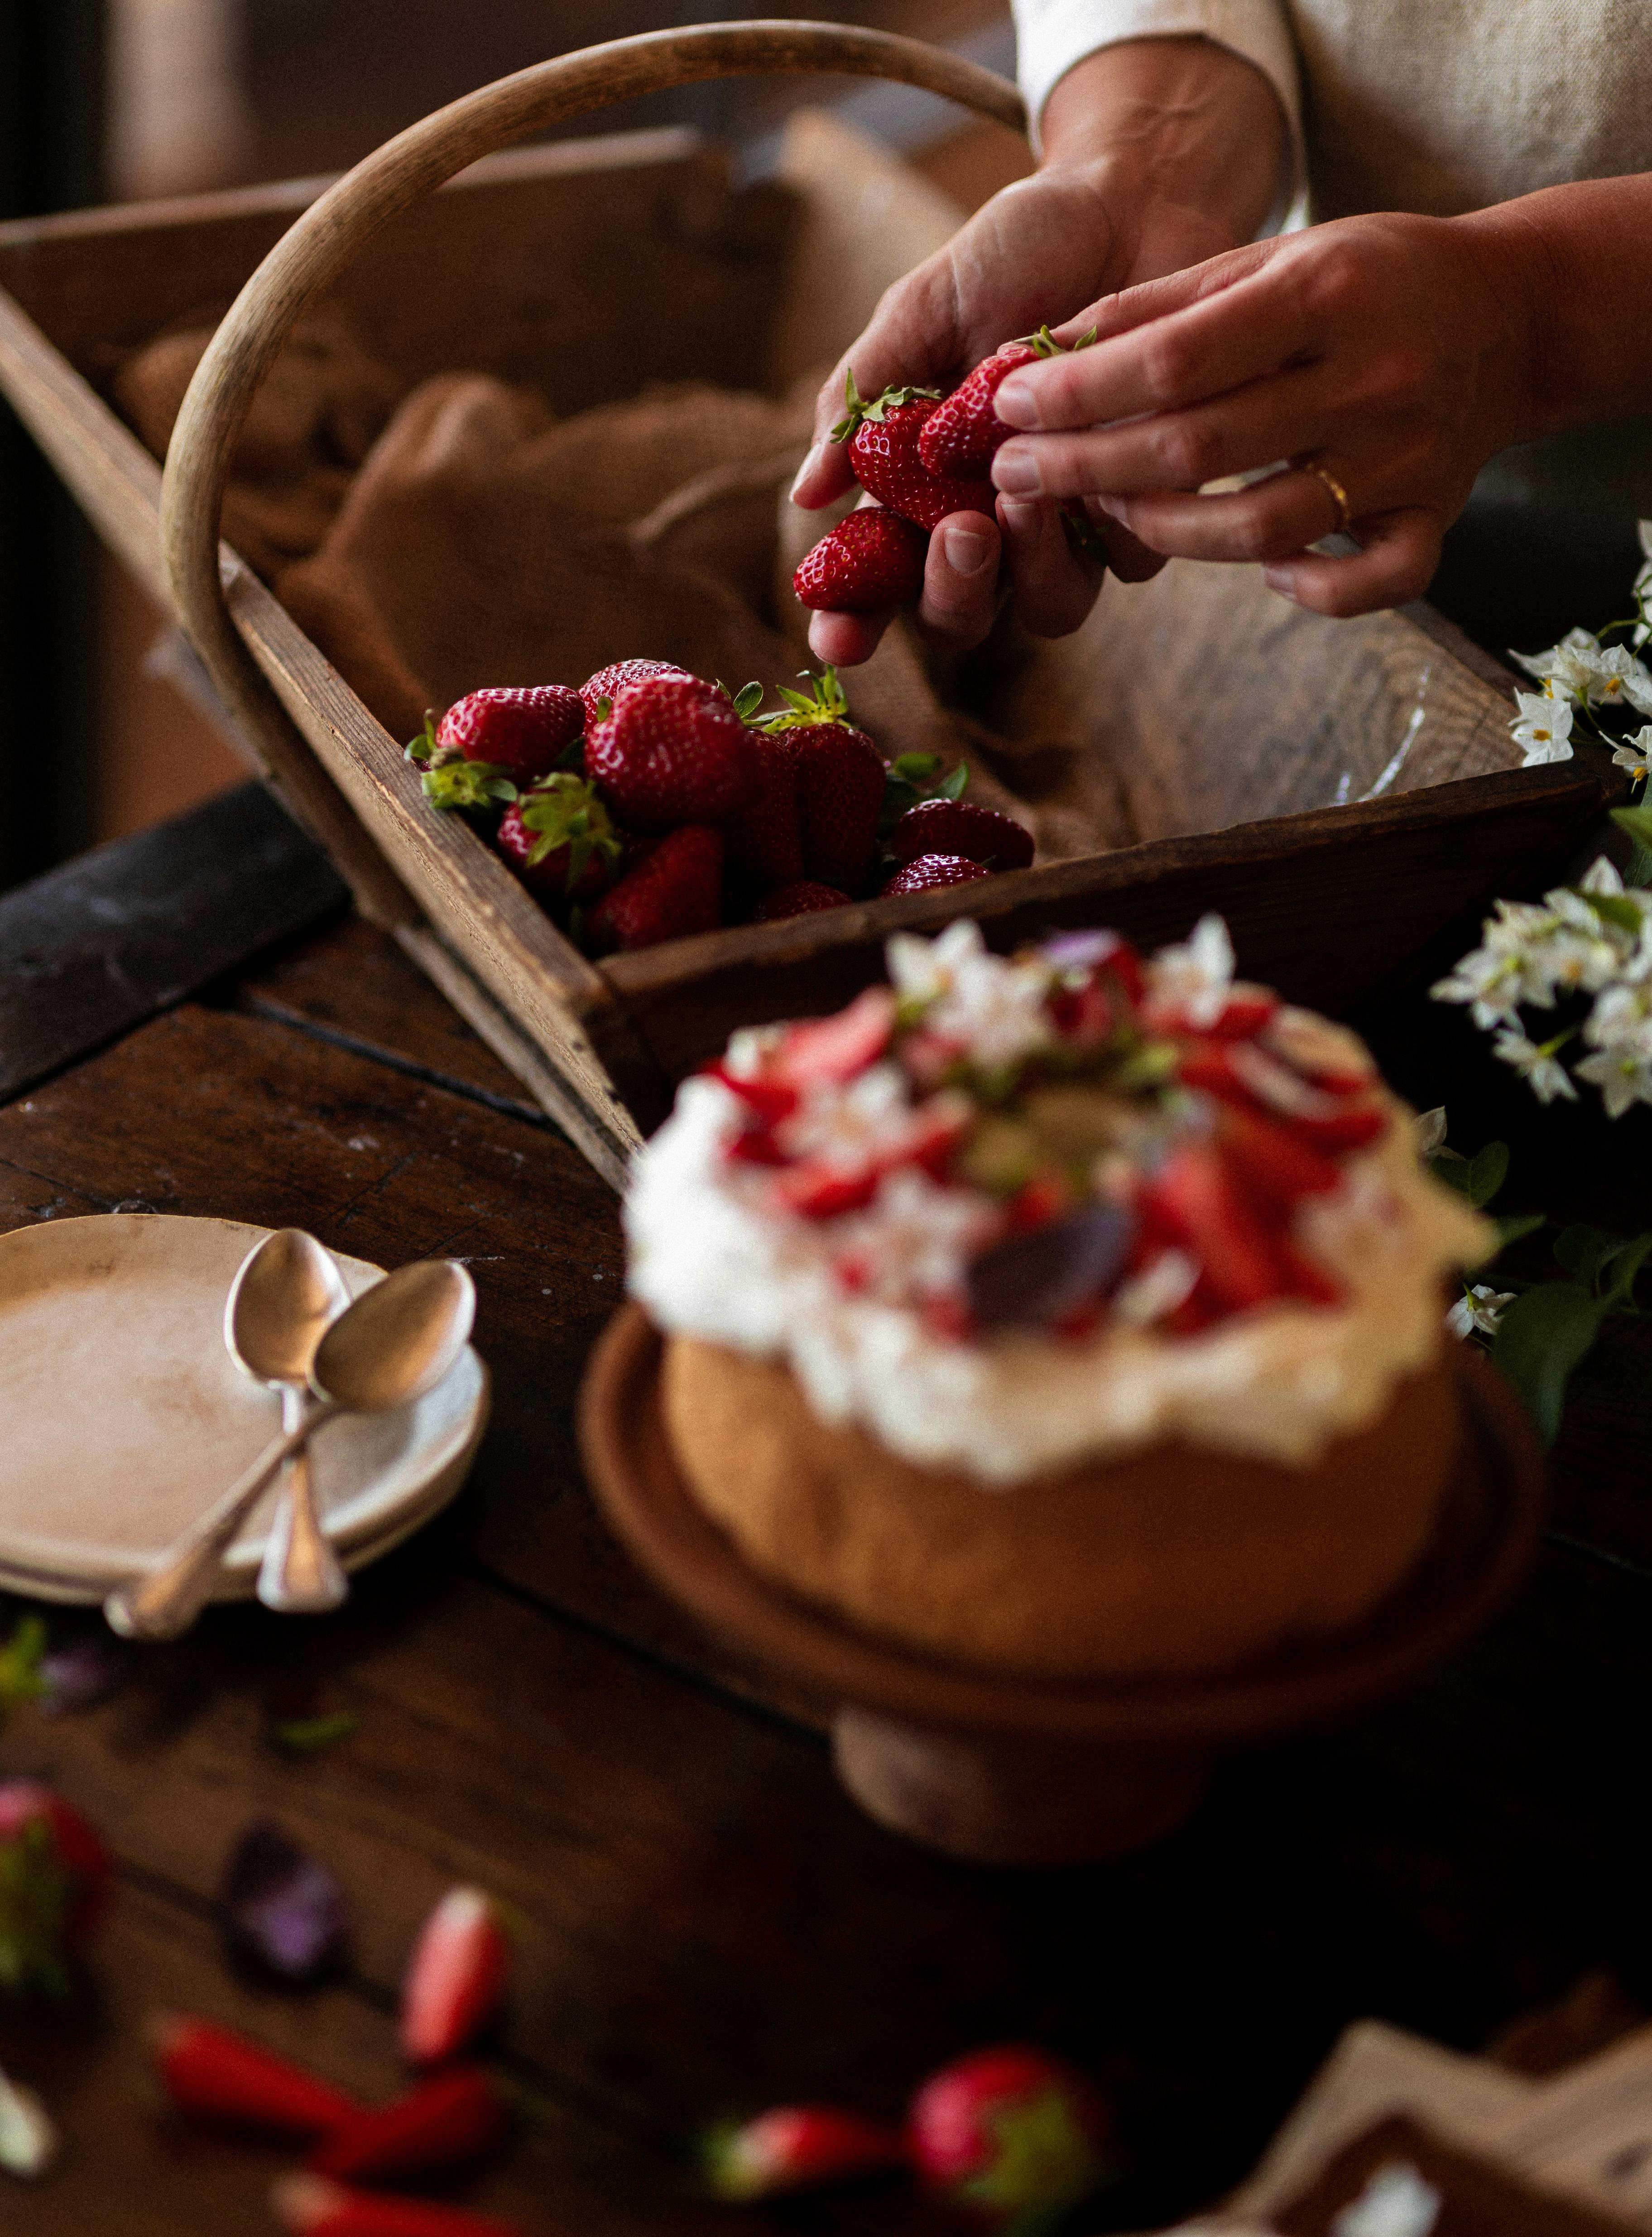
[[[331, 186], [275, 244], [235, 298], [183, 398], [161, 485], [161, 548], [179, 620], [212, 682], [291, 790], [320, 770], [241, 642], [219, 573], [230, 459], [259, 383], [306, 304], [373, 233], [478, 157], [615, 101], [767, 72], [894, 78], [1022, 130], [1006, 81], [941, 47], [834, 22], [702, 22], [557, 56], [409, 125]], [[304, 767], [297, 765], [302, 756]]]

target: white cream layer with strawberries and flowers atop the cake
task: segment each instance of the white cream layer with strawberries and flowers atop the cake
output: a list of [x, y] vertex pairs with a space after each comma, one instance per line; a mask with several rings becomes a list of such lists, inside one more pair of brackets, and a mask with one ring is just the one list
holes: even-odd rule
[[1218, 917], [1153, 960], [968, 922], [887, 953], [684, 1085], [626, 1215], [662, 1327], [993, 1483], [1171, 1432], [1310, 1461], [1437, 1353], [1489, 1228], [1352, 1033], [1234, 980]]

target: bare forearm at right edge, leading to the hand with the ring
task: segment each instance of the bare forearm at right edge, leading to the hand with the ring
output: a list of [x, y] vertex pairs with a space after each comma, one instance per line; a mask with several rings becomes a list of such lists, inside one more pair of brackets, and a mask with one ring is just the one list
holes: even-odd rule
[[1652, 172], [1551, 186], [1453, 224], [1525, 336], [1509, 441], [1652, 412]]

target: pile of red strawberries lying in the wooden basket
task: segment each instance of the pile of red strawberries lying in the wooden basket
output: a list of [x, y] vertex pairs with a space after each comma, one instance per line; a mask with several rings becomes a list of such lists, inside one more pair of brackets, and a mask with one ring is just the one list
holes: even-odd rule
[[722, 924], [1022, 870], [1033, 839], [959, 794], [968, 767], [885, 763], [825, 669], [762, 714], [664, 660], [472, 691], [407, 754], [590, 955]]

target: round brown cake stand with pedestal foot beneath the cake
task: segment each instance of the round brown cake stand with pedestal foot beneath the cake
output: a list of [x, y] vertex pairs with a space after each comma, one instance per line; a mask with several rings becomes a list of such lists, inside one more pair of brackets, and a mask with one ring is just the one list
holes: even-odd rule
[[706, 1629], [834, 1702], [838, 1778], [870, 1816], [981, 1863], [1149, 1848], [1194, 1812], [1221, 1754], [1332, 1722], [1462, 1644], [1513, 1593], [1542, 1530], [1538, 1438], [1464, 1344], [1464, 1452], [1440, 1530], [1366, 1622], [1232, 1678], [1017, 1680], [852, 1631], [758, 1575], [684, 1485], [659, 1358], [659, 1331], [628, 1304], [586, 1374], [579, 1436], [610, 1528]]

